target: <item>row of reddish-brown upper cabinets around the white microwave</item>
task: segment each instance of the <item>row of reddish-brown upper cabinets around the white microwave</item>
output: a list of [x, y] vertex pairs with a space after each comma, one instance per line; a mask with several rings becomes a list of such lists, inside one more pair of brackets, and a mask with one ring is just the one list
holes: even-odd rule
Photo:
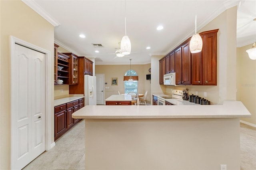
[[176, 72], [177, 85], [217, 85], [217, 32], [218, 29], [200, 33], [203, 41], [200, 53], [190, 53], [188, 38], [160, 59], [160, 84], [165, 60], [164, 73]]

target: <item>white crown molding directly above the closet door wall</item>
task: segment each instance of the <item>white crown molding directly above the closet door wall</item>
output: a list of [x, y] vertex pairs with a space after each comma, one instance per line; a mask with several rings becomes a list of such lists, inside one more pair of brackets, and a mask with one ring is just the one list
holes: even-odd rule
[[34, 0], [22, 0], [27, 6], [32, 8], [35, 12], [37, 12], [40, 16], [42, 16], [46, 21], [50, 22], [53, 26], [59, 26], [60, 23], [55, 20], [48, 12], [46, 12], [40, 5], [38, 5]]

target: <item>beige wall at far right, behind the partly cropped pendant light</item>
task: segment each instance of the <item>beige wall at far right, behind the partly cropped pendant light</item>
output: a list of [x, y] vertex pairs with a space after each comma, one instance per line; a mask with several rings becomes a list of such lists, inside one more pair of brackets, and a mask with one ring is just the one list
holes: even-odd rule
[[237, 48], [236, 99], [242, 101], [252, 117], [241, 120], [256, 125], [256, 60], [249, 58], [247, 49], [252, 44]]

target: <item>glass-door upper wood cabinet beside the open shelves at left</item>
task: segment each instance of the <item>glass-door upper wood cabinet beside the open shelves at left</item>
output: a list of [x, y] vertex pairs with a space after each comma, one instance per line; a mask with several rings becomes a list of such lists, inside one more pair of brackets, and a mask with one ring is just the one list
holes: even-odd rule
[[78, 84], [78, 56], [74, 53], [63, 53], [70, 57], [70, 85]]

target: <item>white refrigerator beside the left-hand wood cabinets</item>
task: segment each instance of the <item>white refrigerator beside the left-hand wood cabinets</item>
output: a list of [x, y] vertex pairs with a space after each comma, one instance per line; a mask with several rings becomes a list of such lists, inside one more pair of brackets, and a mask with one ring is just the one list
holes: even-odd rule
[[96, 105], [96, 76], [84, 75], [85, 105]]

